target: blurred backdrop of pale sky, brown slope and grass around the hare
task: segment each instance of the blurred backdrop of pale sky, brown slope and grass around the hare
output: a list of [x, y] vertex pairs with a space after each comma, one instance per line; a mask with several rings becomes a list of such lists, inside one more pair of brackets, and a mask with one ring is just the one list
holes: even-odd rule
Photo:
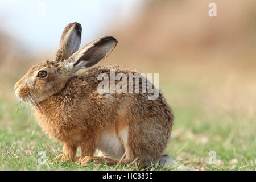
[[[216, 17], [208, 15], [211, 2]], [[16, 112], [13, 87], [32, 64], [54, 58], [61, 32], [71, 22], [82, 24], [81, 46], [100, 36], [117, 38], [118, 46], [101, 64], [159, 73], [159, 88], [175, 114], [166, 153], [179, 165], [255, 169], [253, 0], [1, 1], [0, 169], [15, 169], [15, 155], [19, 168], [42, 169], [24, 162], [38, 158], [40, 145], [61, 152], [26, 107]], [[12, 153], [15, 145], [24, 146], [19, 155]], [[214, 165], [210, 151], [216, 152]]]

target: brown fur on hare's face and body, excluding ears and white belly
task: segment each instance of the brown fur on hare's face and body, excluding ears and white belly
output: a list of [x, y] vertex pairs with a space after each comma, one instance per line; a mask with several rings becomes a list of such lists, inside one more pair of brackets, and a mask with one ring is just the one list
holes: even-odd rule
[[[99, 39], [99, 42], [100, 40], [102, 39]], [[112, 47], [115, 47], [115, 44]], [[79, 52], [76, 55], [79, 55]], [[148, 93], [141, 92], [100, 94], [97, 91], [100, 82], [97, 76], [100, 73], [110, 76], [110, 69], [115, 69], [115, 73], [125, 73], [128, 78], [128, 73], [138, 71], [120, 65], [77, 71], [70, 70], [65, 65], [67, 64], [64, 60], [47, 61], [32, 66], [15, 84], [16, 94], [34, 106], [36, 120], [42, 129], [49, 137], [64, 143], [63, 154], [59, 155], [58, 159], [78, 159], [84, 164], [97, 159], [93, 155], [104, 133], [115, 134], [122, 143], [125, 151], [122, 163], [129, 163], [138, 158], [142, 165], [162, 157], [174, 119], [162, 93], [159, 92], [156, 100], [148, 100]], [[48, 76], [36, 77], [42, 69], [47, 70]], [[126, 129], [128, 136], [125, 146], [121, 134]], [[79, 146], [82, 154], [77, 157]], [[109, 158], [100, 158], [97, 161], [118, 163], [118, 160]]]

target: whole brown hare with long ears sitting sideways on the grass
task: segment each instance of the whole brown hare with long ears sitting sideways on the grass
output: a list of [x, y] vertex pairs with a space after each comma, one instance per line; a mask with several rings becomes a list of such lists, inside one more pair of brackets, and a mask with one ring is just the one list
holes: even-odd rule
[[[137, 159], [135, 163], [142, 167], [170, 163], [172, 159], [163, 152], [174, 115], [163, 94], [149, 100], [148, 93], [98, 92], [101, 73], [110, 75], [110, 69], [125, 75], [139, 72], [121, 65], [92, 67], [117, 46], [112, 36], [81, 49], [80, 43], [81, 24], [68, 24], [55, 59], [33, 65], [14, 86], [16, 96], [33, 106], [36, 120], [49, 137], [64, 143], [57, 159], [109, 165]], [[97, 149], [105, 156], [94, 156]]]

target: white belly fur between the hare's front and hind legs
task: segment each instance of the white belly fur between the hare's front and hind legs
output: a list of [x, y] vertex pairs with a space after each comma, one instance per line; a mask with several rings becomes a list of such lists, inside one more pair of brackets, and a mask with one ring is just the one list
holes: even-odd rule
[[101, 154], [106, 158], [120, 159], [126, 150], [128, 140], [128, 127], [119, 133], [119, 137], [121, 138], [121, 141], [118, 139], [115, 131], [105, 131], [102, 133], [97, 146], [98, 150], [101, 151]]

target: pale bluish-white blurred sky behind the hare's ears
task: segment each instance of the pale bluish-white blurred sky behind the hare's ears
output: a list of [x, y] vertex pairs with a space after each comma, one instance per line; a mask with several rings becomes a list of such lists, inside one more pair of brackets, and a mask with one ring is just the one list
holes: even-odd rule
[[[82, 24], [82, 44], [105, 36], [109, 24], [118, 26], [143, 6], [138, 0], [38, 1], [5, 0], [0, 2], [1, 28], [32, 51], [55, 51], [64, 27]], [[42, 50], [43, 49], [43, 50]]]

